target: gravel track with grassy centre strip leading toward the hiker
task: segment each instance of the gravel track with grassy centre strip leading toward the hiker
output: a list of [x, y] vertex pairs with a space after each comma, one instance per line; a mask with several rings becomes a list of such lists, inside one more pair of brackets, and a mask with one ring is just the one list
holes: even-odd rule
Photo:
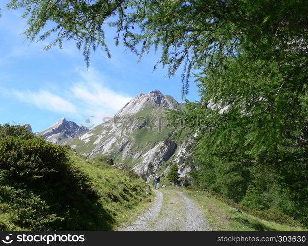
[[151, 207], [121, 231], [207, 231], [206, 219], [199, 207], [180, 191], [153, 190]]

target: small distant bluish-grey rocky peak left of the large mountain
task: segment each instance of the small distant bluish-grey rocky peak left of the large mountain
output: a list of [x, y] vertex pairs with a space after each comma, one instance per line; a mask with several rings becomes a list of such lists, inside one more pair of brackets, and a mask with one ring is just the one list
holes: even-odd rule
[[47, 141], [55, 144], [63, 139], [74, 138], [88, 130], [88, 128], [78, 126], [75, 122], [67, 121], [63, 117], [60, 121], [54, 123], [53, 126], [40, 132], [38, 135], [42, 135]]

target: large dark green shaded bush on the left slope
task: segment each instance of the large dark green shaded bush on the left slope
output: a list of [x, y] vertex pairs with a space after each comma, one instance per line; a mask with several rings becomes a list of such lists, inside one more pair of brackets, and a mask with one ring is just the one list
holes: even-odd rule
[[89, 177], [71, 166], [67, 147], [24, 126], [0, 125], [0, 202], [30, 230], [108, 230], [111, 216]]

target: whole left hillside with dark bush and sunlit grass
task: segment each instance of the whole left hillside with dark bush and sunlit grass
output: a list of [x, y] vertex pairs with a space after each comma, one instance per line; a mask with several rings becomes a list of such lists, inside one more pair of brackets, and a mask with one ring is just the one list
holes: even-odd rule
[[0, 230], [113, 230], [150, 196], [120, 168], [0, 125]]

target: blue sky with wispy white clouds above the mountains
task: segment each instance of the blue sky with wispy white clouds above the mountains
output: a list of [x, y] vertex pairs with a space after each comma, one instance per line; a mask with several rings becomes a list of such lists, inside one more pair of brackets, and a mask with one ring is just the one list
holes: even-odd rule
[[[181, 101], [182, 71], [171, 78], [166, 78], [167, 68], [160, 66], [153, 72], [159, 60], [154, 52], [137, 63], [134, 54], [114, 45], [112, 29], [106, 32], [112, 58], [98, 50], [92, 53], [87, 69], [73, 42], [64, 43], [62, 50], [54, 47], [48, 51], [43, 47], [52, 40], [29, 45], [20, 35], [26, 25], [20, 19], [22, 10], [1, 8], [1, 124], [30, 124], [34, 132], [40, 132], [66, 117], [79, 125], [97, 125], [137, 94], [154, 89]], [[191, 83], [187, 99], [199, 100], [197, 90]]]

